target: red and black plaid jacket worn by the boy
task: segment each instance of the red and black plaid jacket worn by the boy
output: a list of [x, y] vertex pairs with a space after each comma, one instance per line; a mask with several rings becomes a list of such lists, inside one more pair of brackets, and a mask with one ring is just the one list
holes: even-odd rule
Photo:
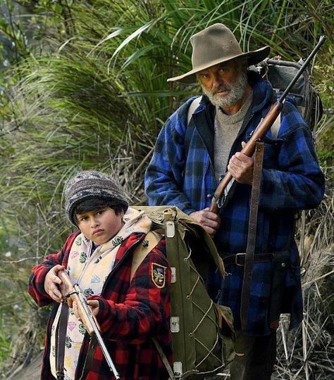
[[[32, 269], [29, 281], [29, 293], [39, 306], [54, 301], [44, 290], [44, 279], [54, 265], [67, 266], [70, 247], [80, 232], [74, 232], [56, 254], [47, 255], [42, 264]], [[144, 234], [132, 234], [121, 244], [113, 270], [106, 279], [99, 299], [97, 320], [101, 327], [104, 342], [122, 380], [164, 380], [168, 379], [166, 369], [151, 341], [156, 337], [161, 348], [172, 361], [171, 332], [169, 329], [171, 270], [165, 257], [165, 241], [162, 239], [144, 259], [135, 272], [130, 284], [132, 253], [144, 239]], [[154, 264], [167, 267], [166, 284], [161, 289], [152, 277]], [[51, 380], [49, 354], [50, 329], [54, 322], [58, 303], [55, 303], [49, 318], [42, 363], [42, 379]], [[79, 379], [89, 348], [89, 336], [85, 335], [78, 360], [75, 379]], [[86, 380], [111, 380], [109, 367], [99, 346], [90, 362]]]

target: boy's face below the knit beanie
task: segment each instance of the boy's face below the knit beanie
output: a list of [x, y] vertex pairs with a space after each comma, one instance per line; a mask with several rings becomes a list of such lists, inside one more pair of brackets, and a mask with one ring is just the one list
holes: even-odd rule
[[117, 215], [109, 206], [75, 215], [82, 234], [98, 246], [111, 240], [123, 227], [124, 212]]

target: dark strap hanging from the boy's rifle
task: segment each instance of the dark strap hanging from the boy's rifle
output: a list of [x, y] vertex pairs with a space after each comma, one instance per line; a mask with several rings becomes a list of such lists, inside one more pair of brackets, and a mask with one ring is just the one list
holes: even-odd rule
[[68, 322], [68, 304], [61, 303], [61, 315], [59, 316], [56, 328], [56, 374], [57, 380], [63, 380], [64, 374], [64, 358], [65, 358], [65, 339]]

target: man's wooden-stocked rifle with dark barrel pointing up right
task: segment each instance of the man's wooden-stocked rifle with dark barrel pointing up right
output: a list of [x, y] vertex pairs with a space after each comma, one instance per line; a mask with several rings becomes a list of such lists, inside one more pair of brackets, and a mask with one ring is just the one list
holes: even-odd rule
[[[242, 148], [241, 153], [244, 153], [246, 156], [251, 157], [255, 151], [255, 144], [256, 141], [259, 141], [264, 135], [268, 132], [269, 129], [271, 129], [271, 126], [273, 125], [273, 122], [275, 122], [276, 118], [280, 114], [280, 111], [283, 108], [283, 101], [285, 101], [285, 98], [287, 97], [287, 94], [289, 93], [290, 89], [295, 85], [300, 75], [302, 75], [302, 72], [307, 68], [307, 65], [311, 61], [312, 58], [316, 55], [317, 51], [321, 48], [323, 42], [325, 42], [326, 36], [321, 36], [319, 39], [318, 44], [316, 44], [315, 48], [311, 51], [310, 55], [307, 57], [307, 60], [304, 62], [302, 67], [299, 69], [295, 77], [292, 79], [290, 84], [287, 86], [283, 94], [280, 96], [278, 101], [276, 103], [273, 103], [271, 106], [269, 112], [267, 113], [266, 117], [261, 120], [259, 125], [254, 130], [254, 133], [252, 134], [252, 137], [249, 139], [247, 144]], [[228, 172], [225, 177], [221, 180], [221, 182], [218, 184], [218, 187], [216, 191], [214, 192], [214, 196], [211, 199], [211, 205], [210, 205], [210, 211], [212, 213], [218, 214], [219, 207], [218, 207], [218, 201], [223, 196], [225, 188], [230, 183], [231, 179], [233, 179], [233, 176]]]

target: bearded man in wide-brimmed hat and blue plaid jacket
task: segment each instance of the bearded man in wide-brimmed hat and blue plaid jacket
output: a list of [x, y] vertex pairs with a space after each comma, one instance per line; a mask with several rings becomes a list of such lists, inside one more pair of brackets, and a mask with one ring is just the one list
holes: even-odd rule
[[[145, 173], [146, 194], [149, 205], [176, 205], [213, 236], [229, 275], [212, 294], [216, 302], [231, 308], [237, 331], [230, 379], [269, 380], [280, 313], [290, 313], [290, 328], [303, 317], [295, 211], [321, 202], [324, 177], [310, 129], [293, 100], [287, 100], [277, 137], [271, 131], [264, 137], [254, 265], [247, 325], [242, 326], [254, 160], [240, 150], [276, 101], [271, 84], [247, 68], [264, 60], [270, 47], [243, 53], [223, 24], [207, 27], [190, 41], [192, 70], [169, 80], [197, 81], [203, 96], [189, 99], [163, 126]], [[209, 205], [226, 171], [235, 181], [216, 215]], [[280, 283], [273, 284], [278, 269], [283, 271]]]

